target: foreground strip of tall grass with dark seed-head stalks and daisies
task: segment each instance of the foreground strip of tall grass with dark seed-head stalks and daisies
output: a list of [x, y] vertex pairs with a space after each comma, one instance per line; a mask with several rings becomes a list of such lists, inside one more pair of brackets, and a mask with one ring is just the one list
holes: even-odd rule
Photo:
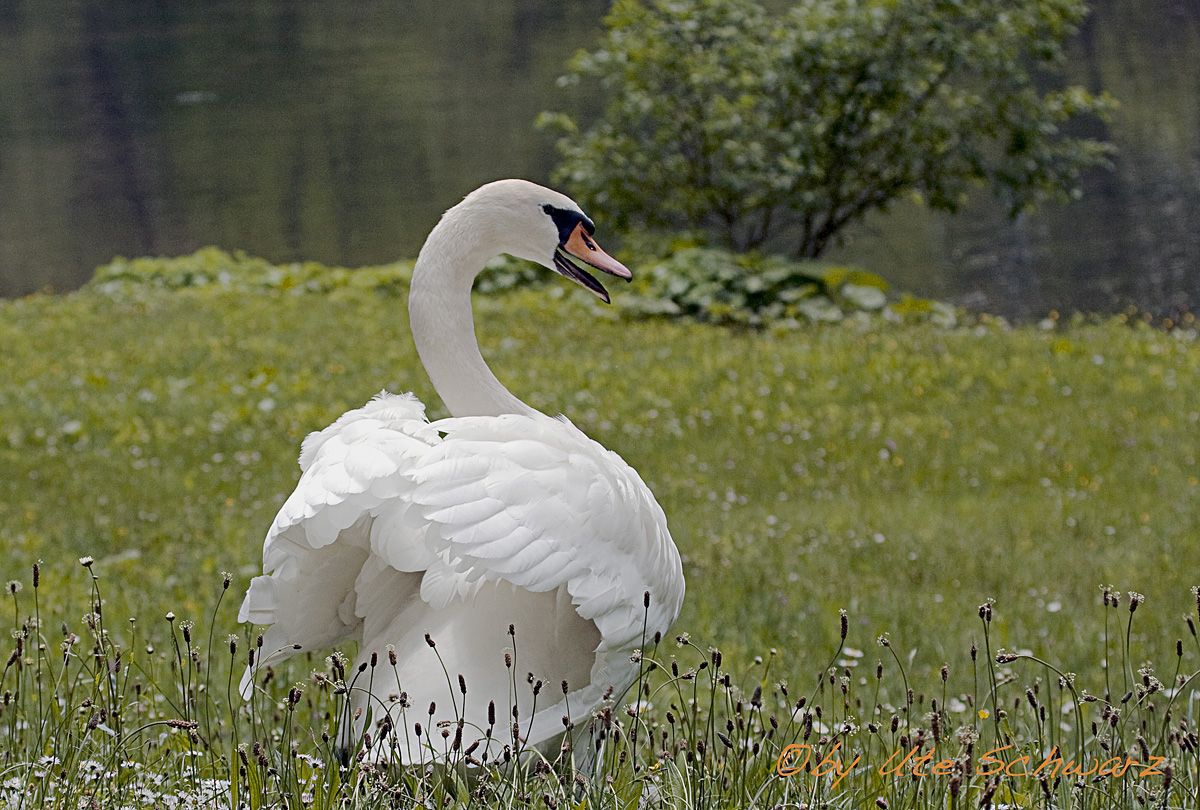
[[[0, 802], [10, 806], [1123, 808], [1177, 806], [1200, 794], [1200, 653], [1182, 638], [1168, 652], [1166, 683], [1148, 662], [1128, 666], [1124, 642], [1129, 688], [1112, 696], [1104, 667], [1067, 672], [1052, 649], [994, 652], [1001, 610], [991, 601], [979, 610], [982, 638], [960, 656], [971, 666], [948, 662], [929, 683], [910, 680], [887, 634], [877, 641], [894, 668], [880, 662], [866, 672], [860, 656], [844, 658], [854, 636], [845, 612], [835, 653], [817, 670], [787, 650], [727, 660], [685, 632], [673, 647], [643, 636], [631, 653], [634, 685], [586, 716], [568, 712], [569, 736], [557, 748], [526, 744], [536, 703], [508, 716], [491, 707], [480, 731], [505, 740], [493, 757], [490, 745], [463, 742], [470, 688], [449, 670], [456, 697], [426, 710], [408, 704], [402, 653], [353, 672], [342, 653], [301, 653], [257, 666], [244, 702], [234, 676], [270, 655], [252, 631], [218, 626], [232, 577], [223, 575], [205, 611], [202, 653], [196, 625], [174, 614], [157, 628], [131, 620], [118, 630], [106, 620], [98, 566], [80, 562], [82, 589], [55, 577], [46, 599], [41, 564], [28, 604], [24, 583], [8, 586]], [[1130, 599], [1138, 606], [1127, 637], [1134, 613], [1151, 610]], [[1105, 592], [1100, 623], [1111, 601]], [[71, 618], [79, 613], [72, 602], [85, 606], [82, 619]], [[48, 604], [67, 607], [47, 616]], [[83, 632], [72, 629], [79, 623]], [[218, 632], [227, 653], [216, 647]], [[250, 638], [250, 655], [240, 655]], [[977, 644], [988, 655], [982, 701]], [[509, 667], [518, 666], [514, 656]], [[788, 679], [809, 678], [812, 690], [792, 697]], [[391, 680], [397, 695], [384, 702], [376, 688], [388, 692]], [[355, 694], [374, 695], [372, 715], [348, 725]], [[356, 738], [338, 737], [349, 726], [361, 730]], [[440, 763], [401, 767], [377, 756], [401, 746], [436, 751]], [[586, 751], [594, 766], [581, 768]], [[796, 767], [779, 769], [788, 763]]]

